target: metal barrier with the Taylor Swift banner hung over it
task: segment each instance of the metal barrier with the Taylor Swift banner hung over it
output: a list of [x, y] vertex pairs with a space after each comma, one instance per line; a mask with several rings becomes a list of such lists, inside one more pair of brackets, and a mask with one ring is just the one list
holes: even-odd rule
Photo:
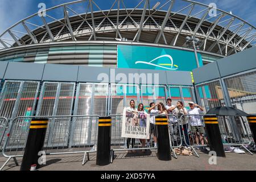
[[[173, 117], [176, 118], [178, 121], [178, 118], [176, 115], [172, 114], [151, 114], [151, 116], [157, 116], [161, 115], [164, 116], [166, 115], [167, 117]], [[109, 115], [109, 117], [112, 118], [112, 129], [111, 129], [111, 151], [112, 151], [112, 156], [111, 156], [111, 163], [113, 162], [114, 159], [114, 151], [127, 151], [127, 152], [135, 152], [138, 150], [141, 151], [146, 151], [146, 150], [156, 150], [157, 147], [155, 146], [154, 143], [154, 134], [150, 134], [150, 139], [149, 141], [146, 140], [146, 145], [142, 147], [142, 141], [140, 139], [131, 139], [131, 138], [123, 138], [121, 137], [122, 134], [122, 117], [123, 115], [121, 114], [115, 114], [115, 115]], [[169, 121], [169, 127], [171, 123]], [[156, 131], [155, 125], [154, 125], [154, 132]], [[150, 131], [151, 132], [151, 131]], [[182, 144], [182, 138], [181, 138], [181, 131], [180, 127], [177, 127], [177, 131], [175, 133], [176, 139], [171, 139], [171, 131], [170, 131], [170, 146], [171, 150], [177, 158], [175, 151], [173, 148], [178, 148]], [[175, 144], [174, 144], [175, 143]]]

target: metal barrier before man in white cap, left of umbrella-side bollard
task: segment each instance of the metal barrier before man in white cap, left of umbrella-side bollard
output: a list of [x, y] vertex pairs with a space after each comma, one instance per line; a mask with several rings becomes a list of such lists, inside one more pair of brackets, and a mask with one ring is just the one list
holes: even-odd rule
[[195, 148], [208, 146], [207, 133], [205, 131], [205, 125], [203, 122], [204, 115], [205, 114], [183, 114], [179, 118], [184, 143], [192, 148], [197, 157], [199, 157], [199, 155], [197, 154]]

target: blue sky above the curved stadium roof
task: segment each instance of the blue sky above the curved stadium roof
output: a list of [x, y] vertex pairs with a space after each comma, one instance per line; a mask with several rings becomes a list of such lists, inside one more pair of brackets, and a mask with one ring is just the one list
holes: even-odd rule
[[[0, 0], [0, 34], [19, 20], [38, 12], [38, 4], [46, 3], [47, 8], [60, 5], [61, 3], [71, 2], [73, 0]], [[134, 7], [139, 0], [124, 0], [127, 6]], [[163, 0], [150, 0], [151, 6], [155, 2], [162, 2]], [[180, 0], [176, 0], [179, 2]], [[219, 9], [225, 11], [232, 11], [247, 22], [256, 26], [256, 1], [255, 0], [194, 0], [197, 2], [209, 4], [216, 3]], [[109, 9], [110, 3], [114, 0], [95, 0], [102, 9]]]

